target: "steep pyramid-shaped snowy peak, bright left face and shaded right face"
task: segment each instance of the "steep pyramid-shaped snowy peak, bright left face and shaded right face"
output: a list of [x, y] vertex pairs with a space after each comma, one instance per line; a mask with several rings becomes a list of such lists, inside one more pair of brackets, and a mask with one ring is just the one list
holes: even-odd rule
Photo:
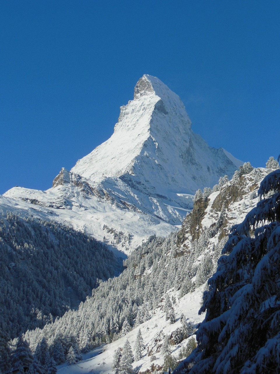
[[182, 194], [214, 186], [241, 164], [194, 134], [179, 96], [145, 74], [134, 88], [134, 99], [121, 107], [111, 138], [71, 171], [96, 182], [117, 177], [150, 199], [160, 195], [186, 208]]

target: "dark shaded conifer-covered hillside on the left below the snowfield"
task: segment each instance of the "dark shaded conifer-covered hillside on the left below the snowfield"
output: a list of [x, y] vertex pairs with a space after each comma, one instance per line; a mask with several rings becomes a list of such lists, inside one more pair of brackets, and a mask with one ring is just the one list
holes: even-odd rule
[[81, 232], [9, 212], [0, 219], [0, 329], [42, 328], [119, 274], [121, 260]]

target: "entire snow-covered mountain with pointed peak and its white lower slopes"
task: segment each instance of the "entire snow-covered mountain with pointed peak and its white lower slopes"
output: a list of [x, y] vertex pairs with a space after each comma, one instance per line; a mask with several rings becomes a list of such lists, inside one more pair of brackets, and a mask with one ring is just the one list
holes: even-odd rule
[[145, 74], [121, 107], [113, 135], [46, 191], [14, 187], [0, 211], [71, 225], [122, 251], [166, 236], [192, 209], [198, 188], [231, 177], [242, 164], [193, 133], [180, 98]]

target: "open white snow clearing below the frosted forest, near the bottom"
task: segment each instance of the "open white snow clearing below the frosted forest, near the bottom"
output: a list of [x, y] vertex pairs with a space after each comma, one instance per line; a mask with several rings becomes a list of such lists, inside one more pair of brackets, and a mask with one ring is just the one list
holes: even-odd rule
[[[176, 322], [174, 324], [170, 324], [169, 321], [165, 319], [165, 312], [162, 310], [164, 302], [161, 303], [161, 307], [157, 308], [152, 315], [152, 317], [141, 324], [139, 326], [141, 330], [141, 334], [143, 337], [144, 344], [146, 345], [146, 350], [144, 351], [144, 356], [141, 360], [137, 362], [133, 362], [133, 368], [136, 371], [145, 371], [146, 369], [150, 369], [152, 363], [155, 365], [162, 365], [164, 361], [164, 356], [162, 352], [155, 353], [156, 359], [151, 362], [151, 356], [147, 355], [147, 349], [151, 349], [155, 344], [155, 337], [161, 331], [164, 335], [171, 334], [172, 331], [175, 331], [177, 327], [181, 326], [180, 316], [183, 313], [186, 318], [190, 319], [194, 325], [202, 322], [204, 315], [198, 315], [197, 311], [200, 308], [200, 304], [202, 302], [202, 294], [204, 291], [205, 285], [200, 286], [195, 290], [195, 292], [189, 293], [183, 296], [178, 302], [173, 305], [175, 309], [176, 315]], [[169, 295], [174, 295], [177, 297], [178, 292], [174, 290], [169, 291]], [[136, 341], [137, 333], [139, 328], [134, 328], [130, 331], [127, 335], [122, 338], [119, 338], [116, 341], [113, 341], [110, 344], [107, 344], [104, 347], [98, 347], [97, 349], [86, 353], [83, 355], [84, 360], [78, 362], [76, 365], [68, 366], [67, 364], [62, 364], [57, 367], [58, 374], [85, 374], [85, 373], [98, 373], [98, 374], [113, 374], [115, 373], [112, 370], [111, 365], [113, 362], [113, 355], [115, 350], [118, 347], [123, 347], [125, 341], [128, 339], [134, 353], [134, 344]], [[184, 340], [182, 343], [171, 346], [171, 354], [178, 355], [178, 351], [181, 346], [187, 344], [187, 340]], [[104, 351], [104, 352], [102, 352]], [[102, 353], [100, 353], [102, 352]], [[100, 353], [100, 354], [98, 354]], [[153, 353], [154, 354], [154, 353]]]

